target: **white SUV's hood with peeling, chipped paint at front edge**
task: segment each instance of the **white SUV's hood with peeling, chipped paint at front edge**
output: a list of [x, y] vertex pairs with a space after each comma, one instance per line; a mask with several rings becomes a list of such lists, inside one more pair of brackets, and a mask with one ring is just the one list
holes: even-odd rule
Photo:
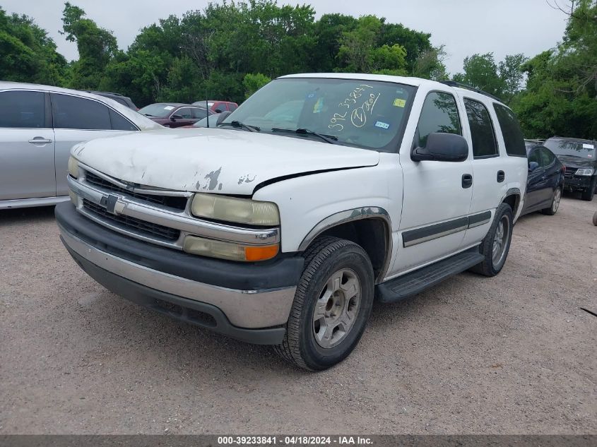
[[97, 138], [71, 153], [107, 175], [176, 191], [251, 195], [263, 181], [377, 165], [379, 153], [232, 129], [165, 129]]

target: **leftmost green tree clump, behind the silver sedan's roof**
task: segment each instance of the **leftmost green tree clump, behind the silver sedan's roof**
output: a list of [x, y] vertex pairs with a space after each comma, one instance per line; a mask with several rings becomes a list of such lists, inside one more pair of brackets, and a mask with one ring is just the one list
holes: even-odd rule
[[66, 59], [47, 32], [27, 16], [0, 8], [0, 79], [61, 85]]

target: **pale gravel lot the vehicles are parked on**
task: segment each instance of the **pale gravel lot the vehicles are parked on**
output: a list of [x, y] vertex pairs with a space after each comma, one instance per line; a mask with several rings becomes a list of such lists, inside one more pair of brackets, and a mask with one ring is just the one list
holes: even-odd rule
[[88, 278], [52, 208], [0, 211], [0, 434], [597, 434], [597, 227], [567, 196], [496, 278], [375, 306], [317, 374]]

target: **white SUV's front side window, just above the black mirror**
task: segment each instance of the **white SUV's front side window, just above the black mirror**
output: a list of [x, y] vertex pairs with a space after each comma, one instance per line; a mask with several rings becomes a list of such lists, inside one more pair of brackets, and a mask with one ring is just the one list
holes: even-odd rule
[[456, 107], [454, 96], [440, 92], [432, 92], [427, 95], [417, 129], [420, 148], [425, 148], [430, 133], [456, 133], [462, 135], [458, 107]]

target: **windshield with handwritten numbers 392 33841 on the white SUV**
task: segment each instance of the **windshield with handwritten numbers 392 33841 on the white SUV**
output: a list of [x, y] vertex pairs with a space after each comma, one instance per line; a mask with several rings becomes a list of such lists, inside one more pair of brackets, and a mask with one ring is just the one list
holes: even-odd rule
[[258, 90], [223, 124], [391, 152], [414, 93], [411, 85], [391, 82], [283, 78]]

